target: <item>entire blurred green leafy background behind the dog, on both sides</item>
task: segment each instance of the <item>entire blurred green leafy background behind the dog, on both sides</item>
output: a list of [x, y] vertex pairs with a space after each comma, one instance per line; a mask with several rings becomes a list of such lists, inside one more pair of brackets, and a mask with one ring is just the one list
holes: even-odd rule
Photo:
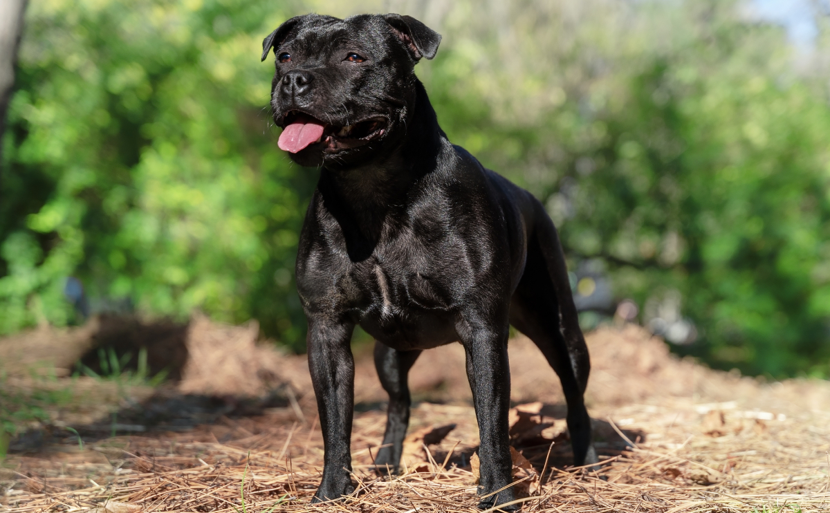
[[[317, 171], [276, 147], [261, 40], [410, 14], [450, 139], [557, 223], [591, 329], [715, 368], [830, 377], [830, 3], [32, 0], [2, 137], [0, 335], [105, 311], [259, 321], [294, 290]], [[624, 308], [618, 308], [623, 301]]]

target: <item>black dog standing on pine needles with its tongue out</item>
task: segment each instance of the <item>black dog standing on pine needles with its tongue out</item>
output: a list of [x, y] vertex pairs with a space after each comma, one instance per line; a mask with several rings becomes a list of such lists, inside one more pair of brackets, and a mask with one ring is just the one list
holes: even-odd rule
[[283, 128], [280, 148], [320, 168], [296, 266], [325, 442], [315, 502], [354, 490], [349, 342], [358, 324], [378, 340], [375, 364], [389, 393], [378, 469], [400, 462], [407, 374], [418, 354], [460, 341], [481, 432], [479, 506], [513, 501], [505, 488], [511, 324], [559, 374], [574, 462], [596, 462], [583, 403], [588, 349], [559, 236], [539, 201], [484, 169], [438, 126], [413, 70], [439, 42], [397, 14], [294, 17], [262, 42], [263, 61], [271, 48], [276, 54], [271, 106]]

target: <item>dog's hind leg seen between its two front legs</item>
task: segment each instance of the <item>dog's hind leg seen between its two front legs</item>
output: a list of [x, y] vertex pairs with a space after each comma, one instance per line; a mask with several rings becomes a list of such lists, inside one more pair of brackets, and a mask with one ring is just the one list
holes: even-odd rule
[[374, 366], [383, 389], [389, 394], [389, 408], [383, 446], [378, 449], [374, 464], [378, 471], [398, 473], [403, 452], [403, 437], [409, 426], [409, 397], [407, 376], [420, 350], [398, 351], [380, 342], [374, 343]]

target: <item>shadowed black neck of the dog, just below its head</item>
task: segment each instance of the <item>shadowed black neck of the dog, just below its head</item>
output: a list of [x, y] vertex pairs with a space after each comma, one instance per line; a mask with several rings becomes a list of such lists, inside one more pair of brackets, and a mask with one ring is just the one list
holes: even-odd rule
[[409, 189], [436, 169], [442, 139], [447, 139], [427, 91], [417, 80], [415, 87], [407, 134], [397, 148], [349, 169], [320, 169], [317, 190], [343, 230], [352, 261], [364, 261], [372, 255], [388, 213], [403, 208]]

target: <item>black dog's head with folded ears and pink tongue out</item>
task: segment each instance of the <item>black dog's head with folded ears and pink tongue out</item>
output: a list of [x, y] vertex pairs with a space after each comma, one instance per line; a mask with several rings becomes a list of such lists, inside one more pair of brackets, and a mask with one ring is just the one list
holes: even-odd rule
[[283, 23], [262, 42], [262, 60], [271, 48], [276, 56], [271, 107], [280, 148], [300, 165], [348, 168], [395, 147], [413, 107], [414, 66], [432, 59], [439, 42], [397, 14]]

